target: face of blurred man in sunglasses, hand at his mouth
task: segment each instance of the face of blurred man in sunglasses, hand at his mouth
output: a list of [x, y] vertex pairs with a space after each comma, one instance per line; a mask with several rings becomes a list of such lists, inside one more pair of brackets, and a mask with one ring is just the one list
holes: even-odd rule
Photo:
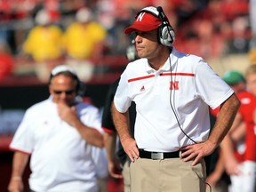
[[65, 103], [68, 106], [73, 105], [76, 98], [76, 80], [70, 76], [57, 75], [52, 77], [49, 85], [49, 92], [52, 95], [53, 102]]

